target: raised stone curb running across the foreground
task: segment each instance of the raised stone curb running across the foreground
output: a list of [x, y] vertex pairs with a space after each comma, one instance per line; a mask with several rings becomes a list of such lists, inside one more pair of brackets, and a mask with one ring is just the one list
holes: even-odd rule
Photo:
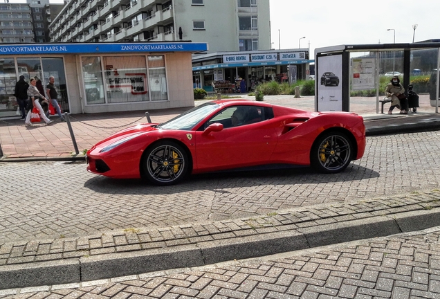
[[100, 280], [384, 237], [440, 226], [440, 208], [125, 253], [0, 266], [0, 289]]

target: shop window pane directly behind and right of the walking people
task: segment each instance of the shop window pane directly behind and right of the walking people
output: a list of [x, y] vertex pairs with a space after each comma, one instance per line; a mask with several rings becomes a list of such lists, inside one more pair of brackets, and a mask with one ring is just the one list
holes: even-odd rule
[[42, 58], [42, 78], [44, 90], [49, 83], [49, 78], [55, 79], [55, 89], [58, 93], [58, 104], [62, 112], [69, 112], [66, 75], [64, 73], [64, 62], [62, 58]]

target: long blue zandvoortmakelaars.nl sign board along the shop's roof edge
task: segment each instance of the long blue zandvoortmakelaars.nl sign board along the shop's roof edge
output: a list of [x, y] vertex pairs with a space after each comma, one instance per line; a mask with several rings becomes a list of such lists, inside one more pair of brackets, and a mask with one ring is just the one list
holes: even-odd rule
[[205, 43], [127, 43], [127, 44], [14, 44], [0, 45], [0, 55], [21, 54], [82, 54], [82, 53], [134, 53], [134, 52], [201, 52]]

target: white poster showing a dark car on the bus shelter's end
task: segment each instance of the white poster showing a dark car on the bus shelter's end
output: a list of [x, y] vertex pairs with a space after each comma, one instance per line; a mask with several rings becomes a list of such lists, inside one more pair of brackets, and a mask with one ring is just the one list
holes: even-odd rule
[[342, 55], [318, 57], [318, 111], [342, 111]]

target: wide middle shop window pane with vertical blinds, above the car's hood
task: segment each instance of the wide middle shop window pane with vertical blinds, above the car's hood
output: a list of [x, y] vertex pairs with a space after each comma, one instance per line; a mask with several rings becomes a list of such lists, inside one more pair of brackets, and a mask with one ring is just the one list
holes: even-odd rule
[[145, 56], [103, 57], [107, 102], [143, 102], [148, 100]]

